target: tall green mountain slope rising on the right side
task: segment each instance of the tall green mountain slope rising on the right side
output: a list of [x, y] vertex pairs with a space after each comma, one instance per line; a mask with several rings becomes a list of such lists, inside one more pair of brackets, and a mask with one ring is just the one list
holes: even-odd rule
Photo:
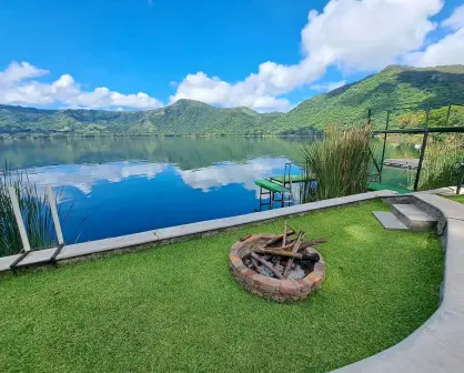
[[[406, 112], [424, 113], [428, 104], [435, 109], [435, 117], [441, 115], [436, 109], [450, 103], [464, 104], [464, 65], [427, 69], [391, 65], [361, 81], [303, 101], [279, 118], [271, 130], [294, 132], [305, 127], [321, 129], [330, 124], [365, 123], [369, 109], [373, 124], [384, 127], [389, 109], [394, 122]], [[453, 113], [458, 109], [453, 107]]]

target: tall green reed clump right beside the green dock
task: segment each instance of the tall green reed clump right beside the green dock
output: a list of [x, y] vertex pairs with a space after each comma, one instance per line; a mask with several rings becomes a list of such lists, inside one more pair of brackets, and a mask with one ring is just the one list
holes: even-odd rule
[[302, 145], [304, 172], [316, 180], [303, 185], [303, 202], [365, 192], [371, 159], [371, 127], [341, 131], [330, 127], [324, 139]]

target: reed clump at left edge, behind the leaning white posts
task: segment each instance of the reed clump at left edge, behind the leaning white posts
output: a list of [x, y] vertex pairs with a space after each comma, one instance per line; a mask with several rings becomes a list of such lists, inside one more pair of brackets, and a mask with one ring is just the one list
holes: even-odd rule
[[18, 196], [26, 231], [31, 248], [47, 248], [53, 243], [56, 233], [50, 206], [44, 194], [20, 171], [12, 171], [8, 164], [0, 169], [0, 256], [19, 253], [22, 242], [11, 205], [9, 188]]

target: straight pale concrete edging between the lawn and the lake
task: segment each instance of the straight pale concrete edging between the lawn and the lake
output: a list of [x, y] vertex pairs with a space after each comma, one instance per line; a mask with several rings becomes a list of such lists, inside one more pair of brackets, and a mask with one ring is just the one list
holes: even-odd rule
[[[361, 203], [373, 199], [389, 198], [396, 194], [397, 193], [393, 191], [361, 193], [319, 202], [293, 205], [284, 209], [209, 220], [199, 223], [184, 224], [154, 231], [128, 234], [118, 238], [65, 245], [57, 258], [57, 264], [69, 261], [88, 260], [108, 253], [133, 251], [147, 246], [153, 246], [154, 244], [165, 244], [172, 241], [185, 240], [191, 236], [214, 234], [225, 230], [240, 229], [243, 225], [259, 224], [266, 221], [272, 221], [282, 216], [304, 215], [316, 210]], [[26, 256], [21, 264], [23, 266], [28, 266], [44, 262], [50, 259], [54, 250], [56, 248], [31, 252], [28, 256]], [[19, 255], [10, 255], [0, 258], [0, 273], [10, 271], [10, 264], [13, 263], [18, 256]]]

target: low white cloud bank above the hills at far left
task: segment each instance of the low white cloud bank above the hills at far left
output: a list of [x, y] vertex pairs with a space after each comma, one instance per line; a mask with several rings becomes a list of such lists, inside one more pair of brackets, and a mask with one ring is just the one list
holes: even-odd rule
[[11, 62], [0, 71], [0, 103], [10, 104], [53, 104], [69, 108], [89, 109], [155, 109], [162, 102], [147, 93], [122, 94], [105, 87], [93, 91], [81, 89], [70, 74], [62, 74], [52, 83], [42, 83], [34, 78], [48, 74], [28, 62]]

